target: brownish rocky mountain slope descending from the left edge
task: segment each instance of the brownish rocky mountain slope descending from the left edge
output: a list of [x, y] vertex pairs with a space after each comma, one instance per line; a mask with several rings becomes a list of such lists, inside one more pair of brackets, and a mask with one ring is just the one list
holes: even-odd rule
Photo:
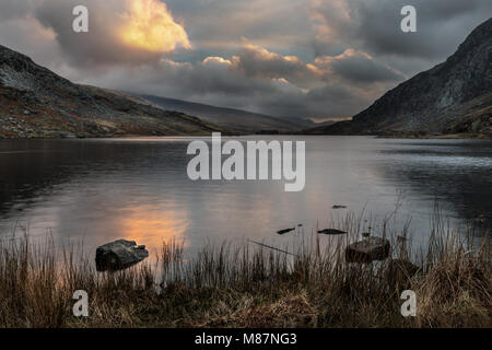
[[209, 135], [196, 117], [74, 84], [0, 45], [0, 138]]

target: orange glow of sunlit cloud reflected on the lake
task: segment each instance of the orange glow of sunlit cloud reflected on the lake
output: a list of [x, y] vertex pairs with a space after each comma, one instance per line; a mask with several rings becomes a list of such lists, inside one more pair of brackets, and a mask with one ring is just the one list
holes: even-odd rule
[[163, 243], [173, 240], [187, 245], [189, 220], [185, 210], [141, 205], [127, 208], [118, 225], [125, 240], [143, 244], [149, 250], [161, 249]]

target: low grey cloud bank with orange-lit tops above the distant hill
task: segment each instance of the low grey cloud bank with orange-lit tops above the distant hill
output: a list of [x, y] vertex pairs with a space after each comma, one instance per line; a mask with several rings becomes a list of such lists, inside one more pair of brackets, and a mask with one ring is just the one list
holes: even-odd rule
[[[251, 55], [248, 51], [251, 49], [253, 47], [248, 46], [242, 55], [231, 58], [211, 56], [197, 63], [176, 62], [164, 58], [157, 65], [139, 66], [131, 71], [120, 67], [104, 75], [86, 78], [84, 83], [126, 90], [128, 81], [131, 81], [131, 91], [137, 93], [243, 108], [281, 117], [351, 116], [374, 97], [364, 94], [362, 88], [352, 89], [341, 84], [338, 79], [329, 79], [328, 71], [321, 71], [315, 66], [306, 68], [308, 63], [298, 58], [285, 59], [260, 47], [255, 47], [256, 54], [259, 52], [260, 56]], [[243, 60], [246, 59], [247, 65], [255, 69], [244, 69], [246, 63]], [[271, 61], [292, 65], [289, 67], [296, 70], [277, 69], [269, 72], [267, 68]], [[303, 78], [303, 72], [307, 77]], [[314, 88], [300, 86], [296, 79], [313, 79]], [[375, 93], [379, 93], [379, 89], [376, 89]]]

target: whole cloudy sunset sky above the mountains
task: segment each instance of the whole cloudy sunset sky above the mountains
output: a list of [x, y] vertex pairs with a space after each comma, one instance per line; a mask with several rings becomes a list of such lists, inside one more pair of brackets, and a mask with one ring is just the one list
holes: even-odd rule
[[[72, 30], [80, 4], [89, 33]], [[1, 0], [0, 44], [78, 83], [326, 120], [444, 61], [491, 14], [490, 0]]]

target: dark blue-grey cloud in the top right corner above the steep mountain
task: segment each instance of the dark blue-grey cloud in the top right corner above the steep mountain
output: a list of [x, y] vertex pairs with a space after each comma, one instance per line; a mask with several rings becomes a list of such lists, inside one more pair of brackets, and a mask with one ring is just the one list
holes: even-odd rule
[[[490, 18], [490, 0], [341, 0], [315, 1], [318, 39], [331, 46], [358, 46], [375, 55], [444, 59], [481, 22]], [[403, 5], [417, 9], [417, 33], [400, 30]], [[338, 13], [337, 20], [333, 16]], [[324, 37], [326, 33], [331, 37]], [[319, 42], [316, 43], [323, 47]]]

